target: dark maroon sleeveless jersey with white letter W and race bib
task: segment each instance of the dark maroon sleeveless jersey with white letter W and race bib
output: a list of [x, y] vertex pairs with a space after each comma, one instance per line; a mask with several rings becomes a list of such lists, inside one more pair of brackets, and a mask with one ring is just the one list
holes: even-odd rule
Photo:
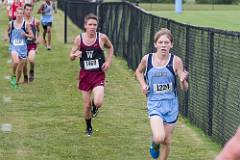
[[83, 43], [83, 37], [80, 34], [80, 51], [82, 51], [80, 66], [83, 70], [101, 71], [102, 65], [105, 62], [104, 52], [100, 47], [100, 33], [97, 32], [96, 34], [96, 40], [91, 46]]

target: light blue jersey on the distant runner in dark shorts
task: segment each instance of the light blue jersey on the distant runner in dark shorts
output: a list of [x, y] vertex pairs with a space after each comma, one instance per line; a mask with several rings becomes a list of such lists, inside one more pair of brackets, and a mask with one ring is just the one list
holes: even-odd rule
[[43, 7], [43, 14], [41, 16], [41, 22], [44, 24], [52, 21], [53, 21], [53, 4], [50, 3], [48, 5], [47, 3], [45, 3]]

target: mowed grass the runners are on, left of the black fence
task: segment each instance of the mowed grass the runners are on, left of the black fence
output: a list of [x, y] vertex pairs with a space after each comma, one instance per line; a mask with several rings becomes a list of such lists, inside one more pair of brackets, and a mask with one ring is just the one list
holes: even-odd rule
[[[0, 34], [7, 24], [0, 12]], [[39, 47], [36, 79], [11, 88], [7, 43], [0, 42], [0, 124], [12, 124], [12, 132], [0, 131], [1, 160], [146, 160], [151, 133], [146, 100], [133, 71], [114, 57], [106, 79], [103, 108], [93, 120], [92, 137], [85, 135], [81, 94], [76, 89], [79, 62], [68, 58], [70, 44], [63, 43], [61, 11], [53, 25], [53, 50]], [[74, 34], [79, 33], [69, 24]], [[176, 127], [169, 160], [212, 160], [219, 146], [182, 118]]]

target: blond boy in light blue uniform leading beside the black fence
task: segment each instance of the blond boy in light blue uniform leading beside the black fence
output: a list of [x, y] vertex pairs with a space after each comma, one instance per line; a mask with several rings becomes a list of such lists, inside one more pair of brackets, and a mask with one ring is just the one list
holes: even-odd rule
[[176, 79], [179, 78], [181, 89], [186, 91], [188, 72], [183, 69], [181, 58], [169, 53], [173, 47], [171, 31], [163, 28], [157, 32], [154, 46], [157, 51], [142, 58], [136, 69], [136, 77], [147, 96], [152, 129], [150, 154], [155, 159], [160, 156], [161, 160], [167, 160], [179, 113]]

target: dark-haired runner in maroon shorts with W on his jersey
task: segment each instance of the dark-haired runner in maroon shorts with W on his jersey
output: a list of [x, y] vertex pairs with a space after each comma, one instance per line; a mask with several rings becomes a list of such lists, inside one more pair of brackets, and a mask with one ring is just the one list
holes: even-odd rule
[[[88, 136], [93, 132], [91, 117], [96, 117], [98, 108], [103, 104], [105, 72], [109, 69], [113, 57], [112, 43], [105, 34], [97, 32], [97, 25], [97, 16], [87, 15], [84, 19], [85, 32], [75, 38], [74, 46], [70, 51], [72, 61], [80, 58], [78, 88], [82, 92]], [[103, 53], [104, 46], [109, 49], [106, 60]]]

